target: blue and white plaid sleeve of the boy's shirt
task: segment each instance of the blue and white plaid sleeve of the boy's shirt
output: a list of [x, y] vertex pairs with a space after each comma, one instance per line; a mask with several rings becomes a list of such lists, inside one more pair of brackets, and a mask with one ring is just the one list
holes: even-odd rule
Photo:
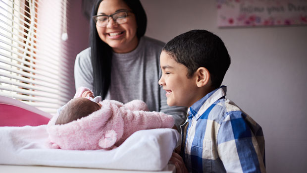
[[226, 116], [217, 134], [218, 155], [227, 173], [265, 173], [255, 134], [245, 119], [241, 111]]

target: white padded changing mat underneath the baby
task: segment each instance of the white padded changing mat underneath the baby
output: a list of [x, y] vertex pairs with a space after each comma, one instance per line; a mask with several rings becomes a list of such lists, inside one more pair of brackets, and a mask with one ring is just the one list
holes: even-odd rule
[[113, 150], [50, 149], [46, 125], [0, 127], [0, 164], [161, 171], [180, 141], [174, 129], [140, 130]]

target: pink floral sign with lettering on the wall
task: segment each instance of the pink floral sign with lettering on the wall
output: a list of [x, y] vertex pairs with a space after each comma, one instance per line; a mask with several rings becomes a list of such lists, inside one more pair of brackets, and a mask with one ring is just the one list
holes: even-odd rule
[[217, 0], [218, 27], [307, 25], [307, 0]]

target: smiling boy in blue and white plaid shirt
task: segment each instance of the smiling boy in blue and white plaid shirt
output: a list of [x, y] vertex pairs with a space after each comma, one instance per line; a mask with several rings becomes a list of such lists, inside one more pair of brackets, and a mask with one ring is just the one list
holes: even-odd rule
[[222, 40], [205, 30], [181, 34], [162, 49], [159, 85], [167, 104], [189, 107], [182, 158], [173, 153], [170, 160], [179, 173], [265, 172], [261, 127], [220, 86], [229, 65]]

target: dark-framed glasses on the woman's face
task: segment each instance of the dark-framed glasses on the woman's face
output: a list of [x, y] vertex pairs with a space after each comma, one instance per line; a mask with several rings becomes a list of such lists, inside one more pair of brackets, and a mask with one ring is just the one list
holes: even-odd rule
[[132, 11], [120, 10], [110, 15], [106, 15], [106, 14], [96, 15], [96, 16], [93, 16], [93, 19], [96, 23], [96, 26], [99, 26], [99, 27], [105, 27], [108, 24], [110, 17], [113, 19], [114, 22], [118, 24], [122, 24], [122, 23], [127, 22], [128, 12], [132, 12]]

